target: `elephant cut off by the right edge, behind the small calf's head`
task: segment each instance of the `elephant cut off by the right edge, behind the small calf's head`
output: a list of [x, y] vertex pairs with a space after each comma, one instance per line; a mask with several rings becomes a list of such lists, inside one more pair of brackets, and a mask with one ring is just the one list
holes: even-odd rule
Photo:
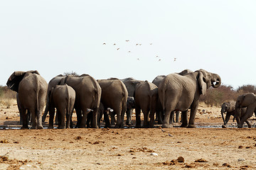
[[[246, 112], [244, 115], [240, 113], [240, 108], [245, 108]], [[238, 96], [235, 102], [235, 119], [238, 122], [238, 128], [242, 128], [245, 121], [252, 117], [252, 114], [256, 114], [256, 96], [255, 94], [242, 94]]]

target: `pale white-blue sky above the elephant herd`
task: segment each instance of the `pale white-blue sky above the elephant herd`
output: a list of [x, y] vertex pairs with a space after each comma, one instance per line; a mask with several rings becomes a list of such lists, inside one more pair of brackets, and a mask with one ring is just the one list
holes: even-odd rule
[[254, 0], [1, 1], [0, 85], [31, 69], [46, 81], [72, 71], [152, 81], [206, 69], [234, 88], [256, 85], [255, 8]]

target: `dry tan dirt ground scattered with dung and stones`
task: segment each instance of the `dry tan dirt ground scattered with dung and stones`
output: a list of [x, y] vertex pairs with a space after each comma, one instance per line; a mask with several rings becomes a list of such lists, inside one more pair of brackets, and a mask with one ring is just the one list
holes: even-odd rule
[[16, 104], [0, 106], [0, 169], [256, 169], [255, 120], [220, 128], [220, 108], [199, 109], [193, 129], [15, 130]]

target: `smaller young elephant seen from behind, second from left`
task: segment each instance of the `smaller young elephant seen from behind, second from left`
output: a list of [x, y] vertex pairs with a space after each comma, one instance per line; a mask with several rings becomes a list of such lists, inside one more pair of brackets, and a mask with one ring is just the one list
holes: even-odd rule
[[[71, 116], [74, 110], [75, 104], [75, 90], [68, 86], [57, 85], [50, 91], [50, 102], [49, 102], [49, 125], [48, 129], [53, 128], [53, 118], [55, 113], [55, 108], [57, 109], [58, 115], [58, 128], [70, 128]], [[67, 122], [65, 123], [65, 117]]]

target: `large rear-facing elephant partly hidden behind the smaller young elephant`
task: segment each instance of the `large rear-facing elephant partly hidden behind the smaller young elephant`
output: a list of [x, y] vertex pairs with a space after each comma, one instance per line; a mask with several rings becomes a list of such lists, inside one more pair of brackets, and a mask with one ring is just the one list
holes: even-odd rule
[[85, 128], [87, 114], [90, 110], [92, 110], [90, 128], [98, 128], [97, 111], [100, 107], [100, 96], [102, 94], [100, 84], [88, 74], [68, 75], [61, 79], [60, 84], [68, 84], [75, 90], [75, 111], [78, 118], [75, 128]]

